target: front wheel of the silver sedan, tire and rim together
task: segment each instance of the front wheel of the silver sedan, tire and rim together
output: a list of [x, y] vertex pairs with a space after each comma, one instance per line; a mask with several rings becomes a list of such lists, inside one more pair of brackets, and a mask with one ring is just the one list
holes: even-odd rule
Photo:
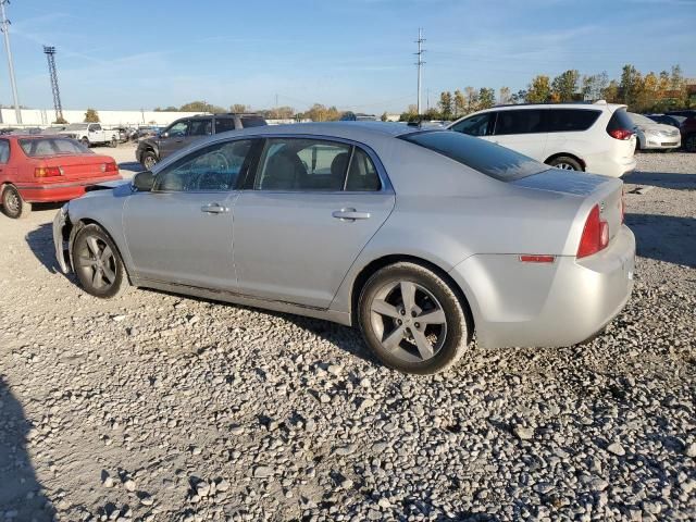
[[129, 287], [119, 249], [99, 225], [87, 225], [77, 233], [71, 254], [75, 275], [87, 294], [110, 299]]

